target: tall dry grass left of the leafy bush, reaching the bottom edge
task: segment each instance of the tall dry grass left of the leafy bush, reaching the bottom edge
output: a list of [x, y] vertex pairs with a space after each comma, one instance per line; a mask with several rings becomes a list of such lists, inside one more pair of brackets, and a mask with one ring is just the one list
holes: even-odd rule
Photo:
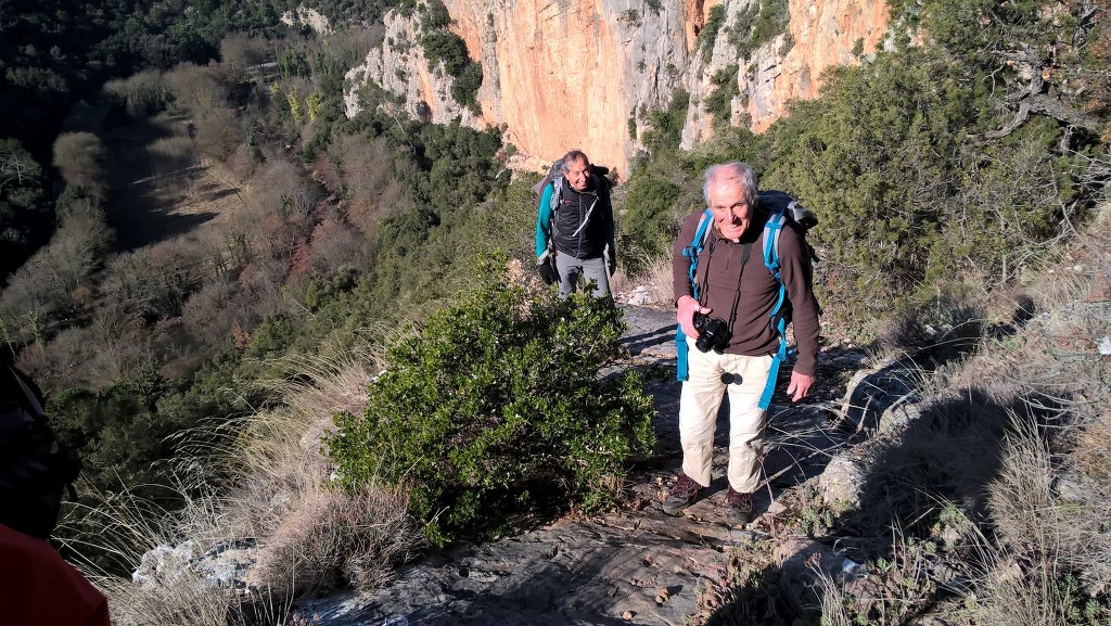
[[[327, 348], [327, 346], [326, 346]], [[196, 554], [213, 546], [254, 546], [237, 578], [248, 592], [216, 585], [193, 567], [171, 567], [143, 584], [106, 574], [92, 558], [84, 570], [109, 598], [117, 624], [293, 624], [293, 598], [342, 585], [373, 588], [421, 549], [407, 490], [377, 484], [357, 494], [329, 485], [321, 436], [336, 411], [361, 411], [374, 350], [333, 347], [323, 356], [284, 362], [291, 372], [270, 386], [284, 401], [238, 425], [213, 423], [182, 441], [178, 459], [187, 499], [172, 515], [126, 495], [79, 511], [96, 535], [71, 540], [78, 554], [112, 555], [133, 570], [156, 546], [190, 540]], [[213, 431], [222, 438], [212, 444]], [[190, 444], [190, 441], [204, 441]], [[221, 483], [216, 483], [221, 477]], [[90, 549], [94, 548], [94, 549]]]

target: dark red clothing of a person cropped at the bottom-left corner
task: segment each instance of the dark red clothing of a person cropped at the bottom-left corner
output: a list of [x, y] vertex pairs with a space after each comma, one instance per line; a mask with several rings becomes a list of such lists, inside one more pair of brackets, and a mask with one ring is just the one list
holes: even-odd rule
[[0, 624], [110, 626], [108, 600], [47, 541], [0, 524]]

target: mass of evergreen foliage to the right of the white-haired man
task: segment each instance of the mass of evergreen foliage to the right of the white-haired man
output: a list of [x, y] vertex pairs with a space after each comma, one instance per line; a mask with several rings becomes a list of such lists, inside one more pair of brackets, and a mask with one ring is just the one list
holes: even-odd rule
[[[778, 13], [768, 11], [770, 24]], [[753, 32], [763, 12], [750, 16]], [[1101, 151], [1107, 121], [1089, 111], [1103, 110], [1108, 72], [1089, 63], [1111, 48], [1098, 43], [1107, 38], [1099, 20], [1080, 12], [1048, 2], [900, 4], [897, 17], [931, 44], [904, 40], [830, 70], [819, 99], [793, 102], [763, 136], [719, 128], [679, 156], [677, 179], [690, 192], [708, 165], [741, 159], [761, 187], [802, 198], [821, 221], [811, 240], [827, 314], [878, 318], [891, 302], [929, 298], [939, 281], [1008, 285], [1082, 219], [1105, 179], [1087, 153]], [[724, 78], [708, 111], [723, 108]], [[1014, 105], [1023, 101], [1029, 109]], [[671, 118], [648, 118], [655, 135], [644, 143], [665, 160], [677, 143]], [[673, 228], [689, 210], [682, 203], [644, 216], [638, 238]]]

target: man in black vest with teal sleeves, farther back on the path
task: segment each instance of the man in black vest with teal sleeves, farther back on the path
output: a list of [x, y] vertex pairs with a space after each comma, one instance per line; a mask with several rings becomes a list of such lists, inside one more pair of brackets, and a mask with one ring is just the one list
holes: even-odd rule
[[592, 296], [600, 298], [610, 294], [610, 275], [617, 267], [614, 251], [610, 182], [591, 171], [587, 155], [571, 150], [563, 157], [562, 176], [540, 196], [537, 264], [546, 271], [548, 256], [556, 255], [561, 298], [574, 291], [580, 276], [587, 282], [594, 281]]

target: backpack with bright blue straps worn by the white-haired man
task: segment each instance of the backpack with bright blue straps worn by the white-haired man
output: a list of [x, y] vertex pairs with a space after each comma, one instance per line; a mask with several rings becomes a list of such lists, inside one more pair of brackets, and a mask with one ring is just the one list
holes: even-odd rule
[[[775, 390], [775, 380], [779, 378], [779, 367], [787, 360], [793, 350], [789, 349], [787, 346], [787, 326], [791, 324], [791, 301], [787, 297], [787, 287], [783, 285], [783, 279], [780, 277], [780, 258], [779, 258], [779, 238], [783, 232], [783, 228], [792, 226], [799, 231], [799, 235], [803, 237], [802, 244], [805, 247], [810, 258], [813, 261], [818, 261], [818, 255], [814, 254], [814, 249], [807, 244], [805, 233], [812, 227], [818, 223], [818, 218], [810, 209], [802, 206], [794, 197], [790, 193], [783, 191], [775, 191], [772, 189], [760, 192], [760, 206], [768, 211], [768, 221], [764, 222], [763, 233], [761, 235], [761, 247], [763, 249], [763, 262], [768, 271], [775, 277], [775, 281], [779, 282], [779, 296], [775, 298], [775, 305], [772, 307], [771, 312], [768, 314], [770, 318], [770, 324], [775, 332], [779, 334], [779, 350], [772, 356], [771, 369], [768, 372], [768, 384], [764, 386], [763, 394], [760, 396], [760, 408], [767, 410], [771, 406], [771, 396]], [[690, 260], [690, 269], [687, 275], [691, 281], [691, 291], [694, 299], [698, 299], [698, 284], [694, 277], [698, 272], [698, 257], [702, 254], [702, 249], [705, 248], [705, 244], [710, 237], [710, 225], [713, 223], [713, 213], [710, 209], [702, 211], [702, 218], [698, 222], [698, 229], [694, 231], [694, 238], [691, 242], [683, 247], [682, 255], [685, 259]], [[819, 309], [819, 312], [821, 309]], [[687, 336], [683, 334], [682, 328], [675, 327], [675, 378], [679, 380], [687, 380]]]

